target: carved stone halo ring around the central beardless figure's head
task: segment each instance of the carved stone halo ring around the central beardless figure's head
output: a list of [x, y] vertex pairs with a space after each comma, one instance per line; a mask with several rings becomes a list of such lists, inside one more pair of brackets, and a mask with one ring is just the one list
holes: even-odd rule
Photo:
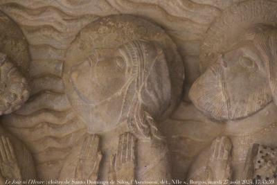
[[166, 118], [181, 99], [184, 83], [183, 62], [177, 52], [177, 46], [163, 29], [150, 21], [131, 15], [103, 17], [93, 21], [80, 31], [66, 52], [66, 63], [64, 64], [63, 78], [69, 101], [71, 101], [69, 97], [71, 94], [71, 88], [69, 87], [69, 71], [71, 67], [92, 55], [93, 49], [117, 48], [135, 39], [158, 42], [166, 55], [172, 84], [170, 107], [162, 116]]

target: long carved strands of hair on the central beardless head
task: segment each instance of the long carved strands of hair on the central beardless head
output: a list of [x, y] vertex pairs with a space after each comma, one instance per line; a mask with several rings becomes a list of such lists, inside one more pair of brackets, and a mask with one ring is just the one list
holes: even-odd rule
[[132, 62], [135, 93], [127, 115], [129, 130], [141, 139], [161, 139], [154, 117], [170, 105], [170, 77], [163, 51], [153, 42], [136, 40], [120, 47]]

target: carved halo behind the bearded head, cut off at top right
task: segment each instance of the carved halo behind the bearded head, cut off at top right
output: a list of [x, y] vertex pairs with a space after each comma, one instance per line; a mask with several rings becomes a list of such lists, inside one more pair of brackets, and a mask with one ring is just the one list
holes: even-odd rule
[[200, 70], [204, 72], [213, 64], [244, 30], [255, 24], [277, 26], [276, 10], [277, 2], [269, 0], [243, 1], [224, 10], [207, 30], [200, 51]]

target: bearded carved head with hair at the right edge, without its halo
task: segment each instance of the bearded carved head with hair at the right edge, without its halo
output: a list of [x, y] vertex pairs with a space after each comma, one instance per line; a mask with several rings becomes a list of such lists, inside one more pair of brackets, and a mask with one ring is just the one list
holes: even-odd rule
[[218, 120], [277, 103], [277, 28], [258, 24], [229, 45], [190, 89], [195, 106]]

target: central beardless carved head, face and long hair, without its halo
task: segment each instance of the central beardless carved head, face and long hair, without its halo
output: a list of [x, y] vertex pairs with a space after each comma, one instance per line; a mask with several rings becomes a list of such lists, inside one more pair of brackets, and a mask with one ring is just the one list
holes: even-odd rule
[[150, 125], [145, 120], [160, 116], [171, 98], [170, 76], [161, 47], [134, 40], [93, 53], [96, 55], [73, 66], [70, 72], [75, 95], [90, 107], [80, 112], [82, 117], [114, 124], [127, 119], [136, 135], [150, 136]]

